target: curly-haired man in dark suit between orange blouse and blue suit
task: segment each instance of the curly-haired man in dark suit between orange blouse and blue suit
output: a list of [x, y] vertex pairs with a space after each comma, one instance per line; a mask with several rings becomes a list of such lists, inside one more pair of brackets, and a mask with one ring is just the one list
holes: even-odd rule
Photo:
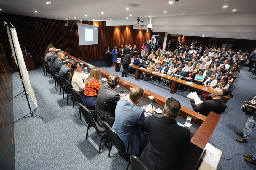
[[126, 97], [126, 94], [118, 94], [115, 88], [120, 83], [117, 75], [110, 75], [105, 85], [102, 85], [97, 96], [97, 103], [95, 107], [95, 116], [97, 123], [103, 127], [103, 121], [107, 122], [110, 127], [115, 121], [115, 109], [120, 97]]

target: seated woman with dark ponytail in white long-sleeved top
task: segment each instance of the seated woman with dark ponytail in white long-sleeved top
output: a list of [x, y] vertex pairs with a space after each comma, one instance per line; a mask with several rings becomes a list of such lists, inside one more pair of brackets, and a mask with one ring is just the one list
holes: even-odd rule
[[83, 97], [85, 91], [85, 83], [83, 80], [85, 80], [89, 74], [84, 75], [80, 74], [80, 72], [82, 72], [80, 65], [78, 63], [72, 64], [69, 70], [69, 82], [71, 82], [72, 87]]

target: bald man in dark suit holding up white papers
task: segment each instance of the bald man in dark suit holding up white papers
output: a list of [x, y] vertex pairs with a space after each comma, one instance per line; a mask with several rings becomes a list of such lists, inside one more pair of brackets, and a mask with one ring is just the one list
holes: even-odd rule
[[215, 88], [211, 93], [212, 100], [201, 101], [201, 104], [197, 106], [195, 104], [195, 100], [193, 97], [191, 97], [190, 103], [194, 111], [199, 112], [204, 116], [208, 116], [211, 111], [217, 114], [222, 114], [227, 108], [227, 105], [220, 100], [222, 95], [223, 90], [220, 88]]

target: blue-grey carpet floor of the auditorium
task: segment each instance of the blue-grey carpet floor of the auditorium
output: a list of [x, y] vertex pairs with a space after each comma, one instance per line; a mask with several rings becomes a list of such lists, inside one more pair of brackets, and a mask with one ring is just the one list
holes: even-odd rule
[[[114, 68], [105, 68], [104, 61], [94, 61], [90, 64], [101, 69], [121, 76], [120, 72], [115, 72]], [[249, 79], [248, 68], [244, 67], [234, 85], [231, 87], [234, 98], [227, 103], [227, 109], [214, 130], [210, 142], [218, 149], [222, 150], [222, 157], [232, 158], [236, 154], [253, 154], [255, 152], [256, 132], [252, 132], [247, 143], [238, 143], [238, 135], [235, 130], [241, 131], [244, 128], [245, 115], [240, 106], [248, 98], [255, 96], [255, 81]], [[79, 120], [78, 105], [75, 102], [72, 109], [72, 100], [66, 105], [66, 95], [62, 98], [59, 91], [54, 89], [52, 80], [42, 72], [42, 67], [28, 71], [31, 86], [34, 89], [38, 109], [36, 114], [44, 117], [29, 117], [14, 124], [15, 139], [15, 165], [16, 169], [125, 169], [127, 162], [121, 158], [116, 148], [112, 148], [110, 158], [107, 158], [108, 149], [104, 145], [101, 147], [101, 154], [98, 154], [100, 137], [90, 128], [88, 140], [85, 140], [86, 123], [84, 119]], [[163, 86], [163, 83], [136, 81], [134, 74], [128, 74], [125, 80], [139, 85], [165, 98], [174, 97], [180, 103], [192, 109], [188, 92], [181, 91], [175, 94], [170, 93], [170, 89]], [[13, 74], [13, 95], [22, 92], [22, 84], [18, 73]], [[34, 104], [29, 99], [31, 109], [35, 109]], [[25, 97], [15, 98], [14, 120], [29, 113], [28, 104]], [[243, 160], [242, 155], [234, 156], [231, 160], [220, 159], [217, 169], [255, 169]]]

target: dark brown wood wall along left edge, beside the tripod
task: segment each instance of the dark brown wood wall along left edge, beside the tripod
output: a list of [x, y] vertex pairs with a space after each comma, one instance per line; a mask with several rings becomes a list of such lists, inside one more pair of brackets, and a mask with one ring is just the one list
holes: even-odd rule
[[15, 169], [12, 73], [0, 42], [0, 169]]

